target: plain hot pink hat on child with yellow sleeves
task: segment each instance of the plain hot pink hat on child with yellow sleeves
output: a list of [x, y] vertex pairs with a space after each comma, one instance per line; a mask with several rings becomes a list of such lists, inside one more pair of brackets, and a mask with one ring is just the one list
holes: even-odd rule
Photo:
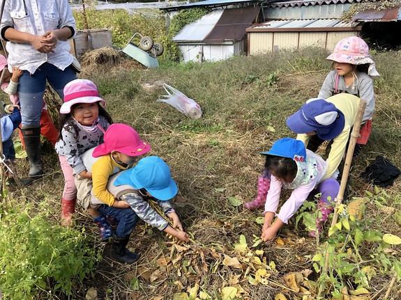
[[93, 151], [93, 157], [107, 155], [112, 151], [119, 151], [128, 156], [144, 155], [151, 150], [151, 145], [139, 139], [139, 135], [125, 124], [112, 124], [105, 132], [105, 143], [98, 145]]

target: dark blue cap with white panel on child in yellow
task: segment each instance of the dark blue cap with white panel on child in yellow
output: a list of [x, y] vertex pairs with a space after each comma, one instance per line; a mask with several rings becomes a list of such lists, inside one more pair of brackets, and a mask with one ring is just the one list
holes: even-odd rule
[[312, 98], [287, 118], [287, 126], [297, 134], [316, 131], [323, 140], [332, 140], [345, 126], [344, 114], [333, 103]]

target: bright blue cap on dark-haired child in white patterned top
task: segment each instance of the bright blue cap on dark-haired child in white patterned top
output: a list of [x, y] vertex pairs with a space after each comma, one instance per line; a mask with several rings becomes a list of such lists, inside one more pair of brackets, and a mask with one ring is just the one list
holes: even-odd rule
[[305, 144], [303, 143], [303, 141], [298, 141], [291, 138], [285, 138], [275, 141], [269, 151], [260, 152], [260, 154], [288, 157], [294, 160], [295, 157], [298, 157], [298, 160], [300, 161], [304, 161], [306, 159]]

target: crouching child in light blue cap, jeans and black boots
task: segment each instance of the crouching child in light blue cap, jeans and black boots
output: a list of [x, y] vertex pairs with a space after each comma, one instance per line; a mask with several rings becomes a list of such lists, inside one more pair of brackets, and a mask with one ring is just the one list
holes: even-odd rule
[[[116, 202], [123, 203], [120, 207], [130, 207], [110, 206], [94, 196], [91, 197], [93, 207], [98, 207], [103, 214], [119, 222], [113, 234], [110, 255], [114, 260], [133, 264], [139, 259], [139, 255], [126, 248], [139, 219], [188, 242], [189, 235], [183, 231], [179, 216], [169, 203], [169, 199], [176, 196], [178, 187], [171, 177], [169, 166], [160, 157], [144, 157], [134, 168], [112, 175], [109, 177], [107, 190], [116, 198]], [[162, 213], [172, 219], [173, 226], [169, 226], [169, 222], [153, 210], [148, 200], [157, 201]]]

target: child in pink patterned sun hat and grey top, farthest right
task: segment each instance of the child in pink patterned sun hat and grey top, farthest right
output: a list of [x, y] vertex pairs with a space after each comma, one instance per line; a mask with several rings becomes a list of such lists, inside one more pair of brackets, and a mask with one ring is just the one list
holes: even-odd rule
[[368, 143], [374, 112], [373, 79], [379, 77], [369, 47], [364, 40], [351, 36], [340, 40], [327, 58], [333, 61], [333, 71], [328, 73], [317, 97], [327, 99], [339, 93], [356, 95], [366, 101], [360, 137], [356, 141], [354, 156]]

